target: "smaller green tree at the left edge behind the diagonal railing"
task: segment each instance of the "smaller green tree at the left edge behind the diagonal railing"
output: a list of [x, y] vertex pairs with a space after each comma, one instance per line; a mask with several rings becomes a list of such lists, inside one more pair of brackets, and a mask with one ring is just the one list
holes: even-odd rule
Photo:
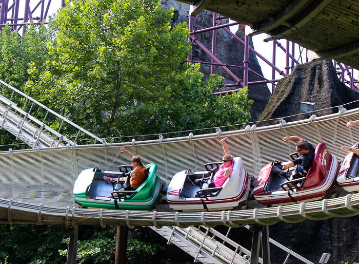
[[[0, 33], [0, 80], [24, 91], [35, 99], [41, 98], [41, 92], [43, 91], [33, 89], [28, 70], [30, 67], [44, 68], [46, 66], [45, 61], [48, 54], [46, 48], [47, 32], [44, 27], [37, 29], [30, 24], [23, 40], [18, 32], [16, 30], [11, 31], [9, 26], [3, 28]], [[18, 96], [17, 93], [12, 95], [12, 90], [5, 85], [1, 85], [0, 93], [8, 99], [11, 98], [11, 101], [16, 103], [18, 107], [24, 107], [25, 98]], [[2, 102], [2, 104], [7, 107], [5, 103]], [[30, 105], [28, 105], [27, 109], [29, 107]], [[37, 108], [33, 108], [32, 115], [41, 118], [44, 113], [38, 111]], [[1, 144], [4, 145], [1, 150], [27, 147], [26, 144], [16, 141], [15, 137], [7, 131], [1, 130], [0, 135]], [[12, 145], [14, 143], [18, 145]]]

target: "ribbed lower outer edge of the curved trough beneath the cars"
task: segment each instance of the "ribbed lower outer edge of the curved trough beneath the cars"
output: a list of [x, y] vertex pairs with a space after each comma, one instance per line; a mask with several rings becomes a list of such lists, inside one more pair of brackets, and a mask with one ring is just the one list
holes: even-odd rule
[[273, 208], [255, 208], [243, 211], [166, 213], [144, 211], [115, 211], [103, 209], [58, 208], [0, 199], [0, 223], [10, 224], [63, 224], [67, 228], [76, 225], [127, 225], [164, 226], [186, 228], [190, 225], [215, 227], [244, 227], [247, 224], [274, 224], [278, 221], [290, 223], [306, 219], [324, 220], [335, 217], [350, 217], [359, 214], [359, 194], [334, 199], [280, 205]]

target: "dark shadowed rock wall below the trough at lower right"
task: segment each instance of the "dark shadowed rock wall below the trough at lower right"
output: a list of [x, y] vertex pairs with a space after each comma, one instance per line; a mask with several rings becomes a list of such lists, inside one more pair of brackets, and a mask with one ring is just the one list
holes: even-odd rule
[[[358, 222], [359, 216], [332, 217], [322, 221], [305, 220], [300, 223], [277, 222], [269, 226], [269, 237], [313, 263], [318, 263], [323, 253], [329, 253], [331, 256], [328, 264], [338, 264], [342, 261], [353, 264], [359, 260]], [[226, 234], [228, 231], [228, 227], [224, 226], [215, 229], [222, 234]], [[229, 238], [251, 250], [252, 232], [246, 228], [232, 228]], [[272, 264], [282, 264], [287, 253], [271, 244], [270, 256]], [[304, 262], [290, 256], [286, 263], [301, 264]]]

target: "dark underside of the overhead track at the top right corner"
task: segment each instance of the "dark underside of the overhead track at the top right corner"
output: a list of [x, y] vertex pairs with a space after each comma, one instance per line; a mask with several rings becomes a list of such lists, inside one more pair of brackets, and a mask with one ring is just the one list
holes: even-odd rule
[[359, 68], [359, 1], [357, 0], [179, 0], [193, 5], [192, 15], [206, 9], [267, 33], [266, 41], [286, 39], [311, 50], [310, 59], [335, 59]]

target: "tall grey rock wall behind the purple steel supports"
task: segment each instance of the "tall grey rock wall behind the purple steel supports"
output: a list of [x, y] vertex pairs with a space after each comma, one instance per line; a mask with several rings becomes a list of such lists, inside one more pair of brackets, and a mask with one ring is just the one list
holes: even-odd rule
[[[173, 7], [175, 9], [174, 21], [175, 23], [189, 23], [189, 5], [176, 2], [173, 0], [162, 0], [161, 7], [163, 9], [168, 9]], [[177, 13], [178, 11], [178, 13]], [[227, 20], [221, 21], [223, 24], [228, 23]], [[203, 29], [213, 26], [213, 12], [203, 10], [200, 14], [194, 17], [193, 29]], [[212, 50], [212, 31], [203, 32], [196, 34], [197, 39], [208, 49]], [[244, 41], [245, 32], [244, 26], [238, 27], [236, 35]], [[253, 48], [252, 38], [249, 38], [249, 45]], [[244, 61], [244, 45], [235, 40], [231, 35], [229, 35], [224, 29], [219, 29], [216, 31], [216, 57], [223, 63], [228, 65], [243, 65]], [[193, 61], [202, 61], [202, 62], [211, 62], [210, 56], [203, 51], [198, 45], [193, 44], [192, 46], [192, 60]], [[249, 68], [255, 72], [263, 75], [261, 66], [258, 64], [257, 58], [253, 52], [249, 52]], [[243, 69], [238, 68], [229, 68], [239, 79], [243, 80]], [[201, 72], [204, 73], [204, 77], [208, 77], [211, 73], [211, 65], [202, 64], [200, 68]], [[224, 84], [236, 83], [229, 74], [223, 70], [222, 67], [216, 66], [215, 72], [223, 76]], [[249, 81], [263, 81], [260, 77], [256, 76], [254, 73], [249, 73]], [[224, 88], [221, 90], [233, 90], [238, 89], [238, 87]], [[251, 107], [251, 120], [257, 121], [261, 116], [263, 110], [265, 109], [271, 93], [266, 84], [260, 85], [249, 85], [248, 87], [248, 98], [253, 100], [254, 103]]]

